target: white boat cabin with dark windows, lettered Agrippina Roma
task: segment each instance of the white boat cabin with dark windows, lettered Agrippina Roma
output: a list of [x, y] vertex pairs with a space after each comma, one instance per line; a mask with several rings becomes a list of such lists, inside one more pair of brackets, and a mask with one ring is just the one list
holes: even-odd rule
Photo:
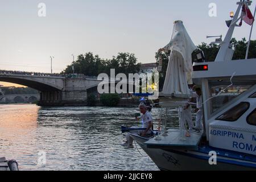
[[[255, 155], [256, 59], [194, 63], [193, 67], [193, 79], [202, 86], [209, 146]], [[216, 88], [225, 90], [216, 94]]]

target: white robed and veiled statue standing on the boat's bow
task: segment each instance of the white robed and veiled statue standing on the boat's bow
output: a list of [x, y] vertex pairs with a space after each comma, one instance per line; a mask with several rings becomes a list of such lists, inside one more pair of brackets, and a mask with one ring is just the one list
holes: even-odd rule
[[171, 50], [164, 81], [164, 94], [190, 94], [188, 84], [192, 84], [192, 52], [196, 49], [183, 22], [174, 22], [170, 43], [164, 47]]

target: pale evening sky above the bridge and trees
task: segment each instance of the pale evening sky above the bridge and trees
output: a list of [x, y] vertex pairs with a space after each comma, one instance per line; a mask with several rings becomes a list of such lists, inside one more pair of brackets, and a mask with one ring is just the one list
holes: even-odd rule
[[[225, 36], [236, 0], [0, 0], [0, 69], [61, 72], [76, 56], [93, 52], [111, 59], [134, 53], [140, 63], [155, 62], [155, 52], [170, 42], [175, 20], [182, 20], [193, 42]], [[39, 3], [46, 5], [46, 16]], [[209, 16], [215, 3], [217, 16]], [[256, 2], [250, 6], [254, 13]], [[243, 23], [233, 37], [249, 38]], [[255, 28], [252, 39], [256, 39]], [[0, 82], [0, 84], [2, 84]]]

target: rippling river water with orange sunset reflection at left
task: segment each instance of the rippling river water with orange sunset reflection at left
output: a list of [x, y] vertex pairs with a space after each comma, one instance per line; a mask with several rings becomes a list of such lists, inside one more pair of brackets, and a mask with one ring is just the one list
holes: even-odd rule
[[[159, 170], [138, 144], [120, 145], [121, 125], [141, 126], [135, 113], [134, 107], [0, 105], [0, 157], [15, 159], [20, 170]], [[155, 128], [160, 113], [152, 110]], [[176, 126], [177, 114], [170, 114]]]

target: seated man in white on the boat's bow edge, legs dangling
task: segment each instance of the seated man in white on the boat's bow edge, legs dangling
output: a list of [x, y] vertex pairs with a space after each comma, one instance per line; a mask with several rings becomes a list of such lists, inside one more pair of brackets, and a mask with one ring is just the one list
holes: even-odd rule
[[[142, 125], [143, 125], [142, 127], [146, 128], [146, 129], [145, 130], [134, 130], [134, 131], [131, 131], [130, 133], [137, 133], [137, 134], [141, 135], [141, 137], [147, 137], [148, 135], [151, 135], [151, 131], [152, 131], [152, 126], [153, 126], [152, 115], [150, 114], [150, 112], [147, 111], [147, 106], [144, 104], [139, 105], [139, 110], [142, 113], [142, 115], [140, 117], [142, 119]], [[127, 139], [127, 141], [125, 143], [123, 143], [122, 146], [124, 146], [125, 149], [134, 148], [133, 138], [131, 138], [129, 133], [126, 134], [126, 139]]]

